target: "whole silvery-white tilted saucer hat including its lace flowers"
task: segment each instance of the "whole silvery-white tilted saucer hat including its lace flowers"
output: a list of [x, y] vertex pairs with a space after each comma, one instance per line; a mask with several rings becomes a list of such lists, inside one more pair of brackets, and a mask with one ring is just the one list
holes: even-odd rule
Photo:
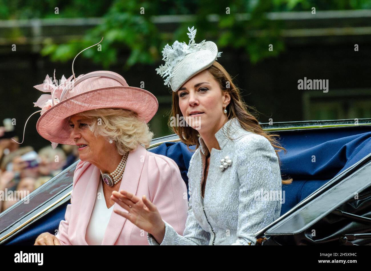
[[156, 69], [157, 74], [165, 78], [164, 85], [171, 87], [174, 92], [177, 91], [185, 82], [200, 71], [209, 68], [217, 57], [223, 52], [218, 52], [218, 47], [212, 41], [201, 41], [195, 43], [196, 36], [194, 26], [188, 27], [188, 37], [190, 41], [180, 43], [175, 41], [173, 46], [166, 44], [162, 51], [165, 64]]

